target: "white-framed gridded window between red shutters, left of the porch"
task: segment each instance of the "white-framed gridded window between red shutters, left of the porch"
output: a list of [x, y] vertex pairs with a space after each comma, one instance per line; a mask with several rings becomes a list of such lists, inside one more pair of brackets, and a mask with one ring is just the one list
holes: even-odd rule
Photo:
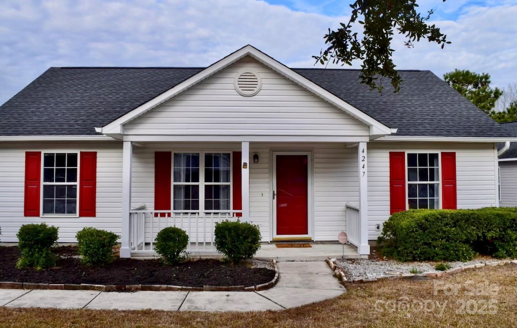
[[78, 154], [43, 154], [43, 214], [77, 214]]

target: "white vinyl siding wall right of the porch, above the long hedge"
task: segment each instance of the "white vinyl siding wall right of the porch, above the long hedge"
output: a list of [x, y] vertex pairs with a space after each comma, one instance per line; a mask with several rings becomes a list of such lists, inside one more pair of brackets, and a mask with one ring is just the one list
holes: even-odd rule
[[390, 151], [455, 152], [458, 208], [496, 205], [497, 163], [493, 144], [371, 142], [368, 143], [368, 239], [374, 240], [381, 234], [375, 225], [382, 227], [390, 216]]

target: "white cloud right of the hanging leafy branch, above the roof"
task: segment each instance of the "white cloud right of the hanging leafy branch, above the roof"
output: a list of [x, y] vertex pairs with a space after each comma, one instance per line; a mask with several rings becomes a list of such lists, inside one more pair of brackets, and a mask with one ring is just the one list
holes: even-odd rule
[[440, 77], [455, 68], [485, 72], [494, 86], [504, 87], [517, 80], [516, 16], [515, 5], [470, 6], [455, 22], [436, 22], [451, 44], [440, 49], [423, 41], [396, 51], [394, 61], [399, 69], [430, 69]]

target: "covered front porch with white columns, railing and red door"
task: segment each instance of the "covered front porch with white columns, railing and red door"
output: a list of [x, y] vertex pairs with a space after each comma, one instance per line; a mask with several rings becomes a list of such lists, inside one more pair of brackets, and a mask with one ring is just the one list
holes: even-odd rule
[[[367, 201], [367, 142], [323, 142], [323, 143], [137, 143], [125, 141], [123, 148], [123, 216], [121, 257], [148, 257], [155, 255], [156, 234], [168, 226], [176, 226], [187, 232], [191, 256], [217, 256], [214, 245], [214, 228], [223, 220], [246, 221], [260, 226], [263, 246], [257, 257], [278, 259], [341, 257], [343, 247], [337, 242], [338, 234], [345, 231], [348, 244], [345, 257], [364, 257], [370, 253], [368, 245], [368, 201]], [[202, 192], [199, 204], [194, 208], [178, 208], [174, 196], [175, 154], [186, 153], [229, 154], [231, 174], [226, 206], [208, 208], [204, 200], [208, 195]], [[169, 188], [169, 208], [156, 209], [157, 199], [156, 153], [168, 150], [173, 173], [165, 179], [172, 180]], [[301, 154], [301, 155], [300, 155]], [[307, 159], [307, 190], [305, 231], [280, 231], [279, 220], [282, 210], [288, 216], [302, 215], [303, 211], [290, 208], [293, 197], [282, 198], [281, 186], [277, 185], [277, 165], [282, 156], [305, 156]], [[227, 161], [227, 160], [226, 160]], [[203, 163], [204, 164], [204, 163]], [[287, 163], [288, 166], [294, 165]], [[204, 167], [205, 166], [205, 167]], [[224, 166], [224, 165], [222, 165]], [[207, 165], [199, 165], [200, 171]], [[211, 169], [211, 168], [210, 168]], [[235, 174], [238, 170], [238, 174]], [[291, 170], [278, 170], [288, 174]], [[294, 170], [296, 171], [296, 170]], [[176, 179], [178, 176], [176, 176]], [[296, 178], [296, 177], [295, 177]], [[201, 180], [205, 180], [201, 177]], [[240, 181], [239, 181], [240, 180]], [[278, 181], [277, 181], [278, 180]], [[278, 182], [280, 183], [280, 182]], [[207, 188], [206, 183], [205, 188]], [[200, 189], [203, 185], [201, 183]], [[146, 192], [147, 191], [147, 196]], [[285, 191], [285, 190], [284, 190]], [[166, 191], [165, 191], [166, 194]], [[286, 192], [289, 194], [289, 192]], [[204, 199], [203, 199], [204, 198]], [[208, 201], [208, 200], [207, 200]], [[239, 204], [240, 203], [240, 204]], [[299, 206], [298, 206], [299, 207]], [[364, 210], [361, 211], [361, 208]], [[278, 219], [278, 220], [277, 220]], [[294, 222], [288, 218], [287, 223]], [[291, 229], [287, 227], [288, 229]], [[285, 227], [284, 227], [285, 229]], [[303, 229], [303, 227], [302, 227]], [[311, 242], [311, 248], [277, 248], [275, 242]]]

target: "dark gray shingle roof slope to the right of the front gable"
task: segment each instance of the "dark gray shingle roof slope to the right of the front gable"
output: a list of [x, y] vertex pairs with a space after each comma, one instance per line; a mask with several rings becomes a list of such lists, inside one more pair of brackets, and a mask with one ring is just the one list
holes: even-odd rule
[[431, 71], [399, 71], [400, 93], [388, 80], [379, 94], [359, 83], [358, 70], [296, 69], [334, 95], [404, 136], [507, 136], [499, 124]]

